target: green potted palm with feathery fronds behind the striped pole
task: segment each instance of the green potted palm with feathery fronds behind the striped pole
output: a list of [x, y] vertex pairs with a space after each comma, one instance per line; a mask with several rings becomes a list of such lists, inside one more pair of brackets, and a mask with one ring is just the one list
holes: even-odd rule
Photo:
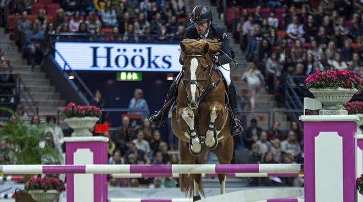
[[[14, 145], [12, 150], [13, 163], [15, 164], [60, 164], [62, 156], [59, 150], [45, 144], [41, 147], [40, 142], [48, 142], [43, 133], [47, 130], [42, 125], [31, 125], [22, 121], [13, 110], [0, 107], [0, 111], [12, 114], [9, 121], [5, 121], [0, 128], [0, 140], [11, 141]], [[29, 181], [30, 175], [24, 176], [25, 183]], [[18, 199], [17, 199], [18, 196]], [[26, 190], [15, 193], [16, 202], [34, 201]], [[24, 199], [24, 200], [22, 200]]]

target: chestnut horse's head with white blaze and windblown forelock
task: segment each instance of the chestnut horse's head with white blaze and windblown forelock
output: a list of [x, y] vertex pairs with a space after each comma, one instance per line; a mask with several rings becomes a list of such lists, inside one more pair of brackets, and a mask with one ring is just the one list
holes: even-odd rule
[[188, 107], [191, 109], [198, 108], [213, 67], [209, 50], [216, 50], [219, 46], [218, 39], [185, 39], [180, 42], [184, 61], [182, 83], [187, 91]]

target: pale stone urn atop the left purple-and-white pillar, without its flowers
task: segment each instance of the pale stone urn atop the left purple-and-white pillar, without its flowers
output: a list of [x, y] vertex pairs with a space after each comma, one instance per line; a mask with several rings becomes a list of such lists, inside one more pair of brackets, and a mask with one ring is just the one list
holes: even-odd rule
[[92, 116], [72, 117], [64, 119], [69, 127], [74, 130], [74, 132], [72, 133], [72, 137], [92, 136], [92, 133], [89, 132], [89, 129], [92, 129], [98, 120], [98, 117]]

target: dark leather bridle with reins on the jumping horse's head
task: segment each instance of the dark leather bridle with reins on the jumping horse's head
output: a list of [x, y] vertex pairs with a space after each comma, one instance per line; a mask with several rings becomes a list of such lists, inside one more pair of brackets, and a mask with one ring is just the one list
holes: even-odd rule
[[[222, 77], [221, 77], [220, 74], [217, 74], [219, 76], [219, 78], [215, 82], [212, 82], [209, 86], [207, 86], [208, 80], [212, 75], [211, 74], [211, 68], [213, 68], [213, 65], [210, 62], [208, 62], [208, 59], [206, 58], [205, 55], [202, 55], [202, 54], [200, 54], [198, 52], [193, 52], [193, 53], [196, 54], [196, 55], [187, 55], [185, 58], [199, 58], [199, 57], [205, 58], [207, 60], [208, 64], [202, 70], [206, 71], [206, 77], [205, 77], [205, 79], [185, 79], [183, 77], [182, 84], [184, 86], [184, 89], [187, 92], [188, 92], [188, 89], [187, 89], [187, 84], [186, 83], [190, 82], [190, 85], [196, 85], [196, 87], [198, 89], [199, 97], [200, 97], [200, 99], [203, 99], [203, 97], [206, 94], [208, 94], [214, 87], [217, 86], [217, 84], [222, 79]], [[191, 53], [191, 54], [193, 54], [193, 53]], [[183, 66], [182, 69], [183, 69], [183, 72], [184, 72], [184, 66]], [[203, 88], [201, 90], [200, 90], [199, 86], [197, 85], [197, 82], [203, 82]]]

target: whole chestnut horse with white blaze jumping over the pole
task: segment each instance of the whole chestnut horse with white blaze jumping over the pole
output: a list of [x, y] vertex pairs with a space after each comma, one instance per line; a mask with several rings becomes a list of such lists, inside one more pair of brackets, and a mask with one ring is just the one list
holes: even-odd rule
[[[213, 68], [210, 52], [220, 47], [218, 39], [184, 39], [180, 42], [184, 61], [181, 84], [177, 88], [177, 106], [172, 111], [171, 127], [179, 138], [181, 164], [205, 164], [207, 149], [220, 164], [230, 164], [233, 137], [231, 116], [225, 104], [225, 84]], [[206, 149], [205, 149], [206, 148]], [[225, 193], [225, 174], [218, 174], [221, 194]], [[180, 190], [193, 194], [193, 201], [205, 195], [201, 174], [180, 174]]]

